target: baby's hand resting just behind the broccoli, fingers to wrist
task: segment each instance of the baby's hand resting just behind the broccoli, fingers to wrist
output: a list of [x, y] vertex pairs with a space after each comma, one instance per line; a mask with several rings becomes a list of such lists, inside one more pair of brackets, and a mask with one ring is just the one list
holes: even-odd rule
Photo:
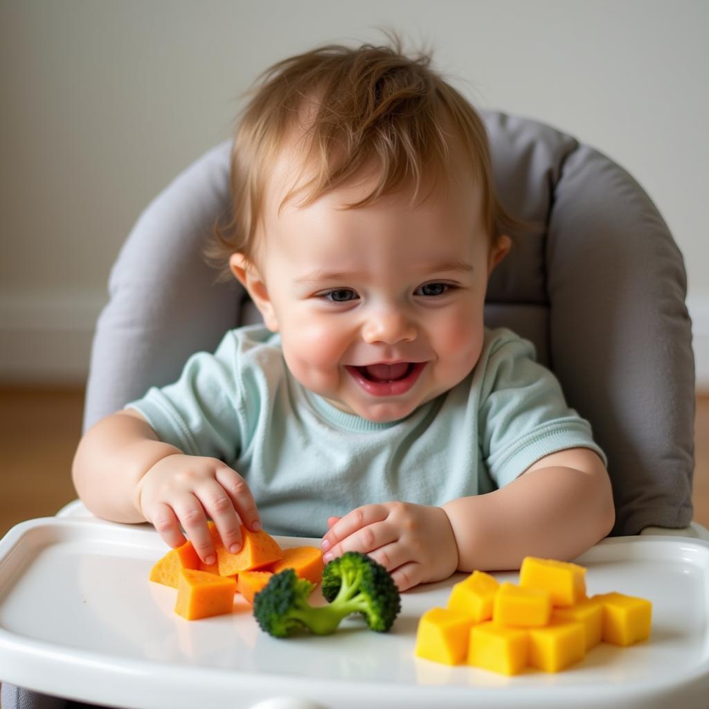
[[458, 547], [448, 515], [440, 507], [386, 502], [365, 505], [328, 520], [323, 560], [345, 552], [369, 554], [406, 591], [447, 579], [458, 567]]

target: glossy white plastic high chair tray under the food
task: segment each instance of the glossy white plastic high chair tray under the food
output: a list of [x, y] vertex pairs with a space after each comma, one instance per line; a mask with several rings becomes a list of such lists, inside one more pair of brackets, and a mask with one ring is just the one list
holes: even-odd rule
[[589, 595], [649, 598], [651, 638], [601, 644], [558, 674], [514, 677], [413, 656], [420, 615], [445, 605], [462, 574], [404, 593], [389, 633], [353, 618], [328, 637], [275, 640], [241, 600], [232, 615], [176, 615], [177, 592], [147, 580], [166, 551], [147, 525], [41, 518], [13, 527], [0, 540], [0, 681], [126, 708], [237, 709], [274, 697], [291, 698], [280, 706], [328, 709], [709, 704], [709, 542], [601, 542], [579, 558]]

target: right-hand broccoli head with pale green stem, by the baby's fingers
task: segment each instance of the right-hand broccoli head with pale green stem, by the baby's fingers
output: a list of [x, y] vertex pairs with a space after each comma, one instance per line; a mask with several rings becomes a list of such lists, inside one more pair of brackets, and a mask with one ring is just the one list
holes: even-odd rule
[[391, 574], [367, 554], [345, 552], [323, 571], [323, 596], [330, 605], [362, 613], [367, 625], [386, 632], [401, 610], [401, 597]]

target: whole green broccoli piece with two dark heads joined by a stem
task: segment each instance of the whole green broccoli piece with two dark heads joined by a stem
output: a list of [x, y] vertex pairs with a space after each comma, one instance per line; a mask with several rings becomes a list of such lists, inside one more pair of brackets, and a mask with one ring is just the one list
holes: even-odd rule
[[366, 554], [347, 552], [325, 566], [323, 596], [330, 601], [328, 605], [308, 603], [313, 588], [293, 569], [274, 574], [254, 598], [254, 617], [261, 629], [274, 637], [302, 629], [330, 635], [342, 618], [362, 613], [372, 630], [384, 632], [401, 610], [398, 588], [389, 571]]

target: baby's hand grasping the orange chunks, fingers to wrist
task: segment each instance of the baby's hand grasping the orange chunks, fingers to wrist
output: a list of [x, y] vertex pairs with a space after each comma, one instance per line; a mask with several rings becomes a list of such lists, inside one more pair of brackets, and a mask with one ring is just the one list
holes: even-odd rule
[[155, 526], [171, 547], [186, 542], [180, 525], [189, 535], [205, 564], [216, 561], [207, 527], [214, 520], [224, 546], [241, 549], [240, 523], [261, 529], [256, 502], [246, 481], [216, 458], [169, 455], [160, 459], [138, 482], [136, 507]]

